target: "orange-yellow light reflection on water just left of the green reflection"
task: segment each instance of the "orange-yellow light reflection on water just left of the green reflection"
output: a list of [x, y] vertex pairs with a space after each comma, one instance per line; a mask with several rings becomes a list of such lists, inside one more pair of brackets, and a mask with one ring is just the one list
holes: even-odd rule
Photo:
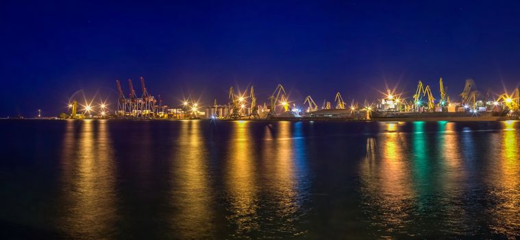
[[374, 147], [377, 150], [367, 152], [367, 158], [360, 165], [363, 205], [373, 222], [385, 223], [385, 226], [377, 227], [403, 226], [409, 215], [409, 202], [414, 197], [405, 158], [406, 143], [401, 139], [401, 133], [388, 132], [380, 134], [376, 141], [367, 140], [367, 149]]

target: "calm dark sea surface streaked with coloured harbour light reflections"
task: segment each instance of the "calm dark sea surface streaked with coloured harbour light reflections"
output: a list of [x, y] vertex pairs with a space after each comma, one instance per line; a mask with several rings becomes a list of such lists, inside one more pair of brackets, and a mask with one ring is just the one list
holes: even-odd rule
[[0, 121], [0, 237], [520, 237], [520, 122]]

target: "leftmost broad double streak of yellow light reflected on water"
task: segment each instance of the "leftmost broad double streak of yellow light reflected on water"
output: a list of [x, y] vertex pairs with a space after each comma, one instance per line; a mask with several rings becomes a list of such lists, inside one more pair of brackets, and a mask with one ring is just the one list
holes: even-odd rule
[[[67, 121], [62, 155], [63, 215], [58, 228], [70, 236], [114, 235], [115, 167], [107, 121]], [[75, 134], [79, 127], [79, 134]]]

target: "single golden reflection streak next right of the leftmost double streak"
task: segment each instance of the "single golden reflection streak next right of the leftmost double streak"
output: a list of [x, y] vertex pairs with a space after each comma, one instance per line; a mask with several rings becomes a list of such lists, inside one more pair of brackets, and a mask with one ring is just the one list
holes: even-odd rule
[[173, 230], [180, 239], [210, 239], [214, 217], [208, 176], [208, 152], [203, 145], [201, 121], [181, 121], [178, 143], [173, 150], [171, 196], [179, 211], [172, 219]]

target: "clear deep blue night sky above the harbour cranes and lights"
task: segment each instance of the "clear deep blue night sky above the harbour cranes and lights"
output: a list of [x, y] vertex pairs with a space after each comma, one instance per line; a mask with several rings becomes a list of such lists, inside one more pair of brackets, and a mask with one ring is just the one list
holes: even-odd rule
[[169, 105], [224, 103], [231, 85], [262, 103], [280, 82], [321, 105], [380, 97], [384, 82], [437, 93], [443, 77], [451, 98], [468, 77], [520, 83], [519, 1], [107, 2], [0, 2], [0, 117], [55, 115], [79, 89], [113, 103], [114, 80], [128, 93], [140, 76]]

